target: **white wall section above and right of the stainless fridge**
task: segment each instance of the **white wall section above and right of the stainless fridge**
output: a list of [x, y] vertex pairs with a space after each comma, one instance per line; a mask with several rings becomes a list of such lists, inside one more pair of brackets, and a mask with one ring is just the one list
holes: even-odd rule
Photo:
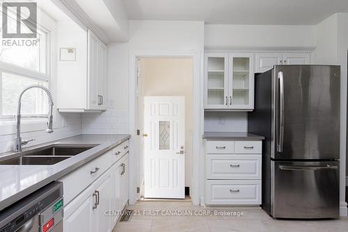
[[347, 216], [345, 179], [347, 169], [347, 51], [348, 13], [331, 15], [316, 28], [315, 64], [340, 65], [340, 215]]

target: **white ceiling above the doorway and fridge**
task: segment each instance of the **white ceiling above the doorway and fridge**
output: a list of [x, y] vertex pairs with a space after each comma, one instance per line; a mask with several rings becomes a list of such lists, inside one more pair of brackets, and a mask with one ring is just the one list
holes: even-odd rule
[[312, 25], [348, 12], [348, 0], [122, 0], [129, 19], [207, 24]]

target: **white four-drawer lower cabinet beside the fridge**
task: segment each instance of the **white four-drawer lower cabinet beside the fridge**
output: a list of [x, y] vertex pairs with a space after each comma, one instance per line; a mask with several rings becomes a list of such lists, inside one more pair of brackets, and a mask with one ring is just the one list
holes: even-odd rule
[[208, 140], [206, 147], [205, 203], [260, 205], [262, 141]]

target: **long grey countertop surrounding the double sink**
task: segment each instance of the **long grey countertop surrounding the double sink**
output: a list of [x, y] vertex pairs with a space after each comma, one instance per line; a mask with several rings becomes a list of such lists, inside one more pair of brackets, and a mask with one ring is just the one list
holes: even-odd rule
[[[0, 210], [26, 197], [52, 181], [57, 181], [74, 169], [93, 160], [109, 149], [129, 139], [130, 135], [77, 135], [47, 144], [99, 144], [55, 165], [0, 165]], [[35, 147], [42, 147], [40, 144]], [[33, 149], [35, 147], [29, 147]], [[25, 150], [25, 149], [24, 149]], [[0, 158], [11, 154], [0, 154]]]

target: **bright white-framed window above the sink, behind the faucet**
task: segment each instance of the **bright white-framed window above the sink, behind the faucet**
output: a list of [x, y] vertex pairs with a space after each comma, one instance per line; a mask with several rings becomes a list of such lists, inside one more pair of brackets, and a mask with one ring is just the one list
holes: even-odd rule
[[[14, 15], [12, 17], [15, 18]], [[8, 27], [14, 26], [16, 21], [8, 19]], [[27, 42], [11, 46], [0, 42], [1, 120], [13, 119], [16, 115], [19, 94], [26, 86], [38, 83], [48, 87], [50, 80], [49, 53], [47, 53], [49, 31], [38, 25], [37, 38], [11, 40]], [[28, 90], [22, 97], [21, 113], [22, 115], [47, 115], [47, 103], [47, 95], [41, 89]]]

